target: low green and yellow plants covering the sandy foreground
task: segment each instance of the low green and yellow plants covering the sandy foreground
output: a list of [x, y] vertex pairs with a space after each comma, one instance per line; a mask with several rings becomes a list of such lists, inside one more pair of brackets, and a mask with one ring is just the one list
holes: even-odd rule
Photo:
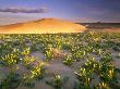
[[[32, 52], [45, 59], [36, 60]], [[116, 54], [115, 54], [116, 53]], [[60, 60], [73, 71], [74, 89], [120, 89], [120, 34], [86, 31], [82, 34], [0, 35], [0, 89], [33, 88], [45, 80], [46, 64]], [[79, 63], [79, 67], [75, 66]], [[69, 77], [51, 76], [45, 81], [55, 89], [65, 89]]]

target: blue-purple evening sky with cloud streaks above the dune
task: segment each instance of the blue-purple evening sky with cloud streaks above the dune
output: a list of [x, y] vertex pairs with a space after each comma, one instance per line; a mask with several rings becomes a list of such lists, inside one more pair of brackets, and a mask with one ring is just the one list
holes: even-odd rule
[[0, 0], [0, 25], [43, 17], [120, 23], [120, 0]]

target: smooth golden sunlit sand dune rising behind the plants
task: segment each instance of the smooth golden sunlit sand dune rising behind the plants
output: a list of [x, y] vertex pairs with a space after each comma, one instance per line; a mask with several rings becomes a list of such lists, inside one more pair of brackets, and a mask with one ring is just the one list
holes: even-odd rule
[[86, 27], [57, 18], [41, 18], [38, 21], [0, 26], [0, 34], [58, 34], [83, 33]]

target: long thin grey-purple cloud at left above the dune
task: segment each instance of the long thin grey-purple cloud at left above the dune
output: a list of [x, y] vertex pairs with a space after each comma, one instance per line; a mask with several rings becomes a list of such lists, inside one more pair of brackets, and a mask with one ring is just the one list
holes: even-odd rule
[[11, 12], [11, 13], [47, 13], [48, 9], [47, 8], [39, 8], [39, 9], [34, 9], [34, 8], [5, 8], [5, 9], [0, 9], [0, 12]]

